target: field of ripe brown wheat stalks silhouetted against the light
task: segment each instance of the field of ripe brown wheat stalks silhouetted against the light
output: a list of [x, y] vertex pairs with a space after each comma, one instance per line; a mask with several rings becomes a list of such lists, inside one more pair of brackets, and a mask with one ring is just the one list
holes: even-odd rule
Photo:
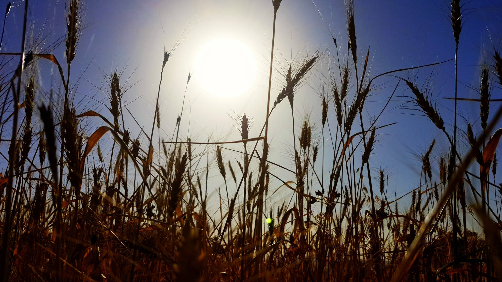
[[[122, 71], [104, 72], [107, 112], [82, 111], [75, 103], [78, 84], [70, 76], [76, 75], [72, 62], [89, 27], [82, 18], [85, 3], [67, 2], [65, 18], [59, 19], [66, 33], [50, 43], [64, 48], [63, 57], [32, 40], [28, 0], [9, 3], [5, 13], [6, 19], [13, 13], [23, 19], [23, 29], [14, 53], [2, 48], [4, 32], [13, 32], [5, 22], [0, 39], [3, 280], [502, 280], [502, 184], [495, 178], [502, 107], [491, 98], [502, 86], [502, 58], [490, 47], [476, 78], [479, 97], [467, 99], [479, 103], [476, 132], [457, 112], [457, 101], [466, 100], [457, 95], [457, 52], [464, 44], [462, 26], [468, 25], [462, 21], [468, 13], [463, 1], [448, 3], [453, 59], [375, 75], [368, 46], [357, 44], [356, 7], [348, 0], [348, 43], [332, 37], [328, 44], [336, 52], [305, 52], [286, 64], [280, 91], [272, 87], [274, 44], [288, 35], [276, 34], [281, 20], [276, 17], [293, 4], [271, 1], [269, 84], [257, 93], [268, 99], [265, 122], [254, 122], [252, 112], [236, 113], [228, 127], [237, 128], [239, 138], [228, 141], [180, 132], [190, 118], [184, 104], [190, 73], [176, 82], [185, 87], [176, 126], [161, 133], [159, 100], [164, 70], [176, 56], [171, 51], [151, 54], [158, 62], [156, 110], [148, 124], [138, 123], [140, 130], [124, 124], [124, 116], [136, 118], [124, 105], [131, 87]], [[315, 96], [319, 112], [298, 120], [295, 93], [326, 60], [329, 71]], [[53, 67], [59, 88], [42, 83], [42, 62]], [[448, 100], [453, 123], [443, 119], [432, 82], [411, 75], [442, 64], [455, 64], [449, 74], [455, 93]], [[367, 98], [390, 78], [394, 91], [368, 119]], [[389, 172], [372, 167], [373, 159], [385, 158], [372, 153], [385, 142], [382, 128], [396, 125], [377, 121], [398, 87], [405, 89], [409, 111], [446, 140], [438, 148], [440, 141], [429, 139], [420, 152], [419, 183], [401, 197], [389, 189]], [[292, 132], [286, 137], [287, 164], [269, 158], [275, 148], [269, 124], [278, 122], [279, 107], [291, 109], [284, 125]], [[440, 156], [437, 165], [433, 156]], [[283, 179], [277, 170], [294, 178]], [[280, 189], [291, 199], [272, 201]]]

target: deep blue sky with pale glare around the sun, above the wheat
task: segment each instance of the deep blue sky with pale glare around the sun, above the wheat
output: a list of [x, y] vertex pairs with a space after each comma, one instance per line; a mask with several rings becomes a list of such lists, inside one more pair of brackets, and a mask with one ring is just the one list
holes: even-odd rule
[[[6, 4], [6, 1], [2, 1]], [[18, 3], [20, 4], [20, 3]], [[462, 2], [464, 4], [464, 2]], [[35, 27], [47, 35], [47, 43], [64, 35], [65, 1], [31, 1], [30, 18]], [[24, 6], [24, 5], [22, 5]], [[22, 29], [22, 6], [11, 10], [6, 26], [7, 43], [4, 52], [17, 52], [20, 30]], [[0, 7], [1, 8], [1, 7]], [[455, 42], [449, 22], [449, 3], [446, 1], [359, 1], [355, 0], [355, 26], [359, 62], [370, 47], [371, 75], [389, 70], [413, 67], [454, 58]], [[252, 135], [258, 134], [265, 117], [267, 93], [267, 69], [270, 58], [273, 9], [271, 1], [97, 1], [84, 3], [83, 24], [79, 47], [72, 65], [73, 85], [78, 83], [75, 100], [81, 109], [95, 109], [105, 116], [109, 112], [101, 101], [106, 98], [94, 87], [101, 86], [103, 75], [115, 69], [124, 69], [123, 78], [129, 77], [131, 89], [124, 95], [128, 109], [146, 131], [151, 128], [155, 108], [155, 97], [159, 81], [164, 49], [171, 50], [175, 43], [183, 39], [171, 55], [165, 71], [165, 82], [161, 88], [161, 117], [164, 132], [171, 136], [176, 117], [181, 109], [183, 91], [188, 73], [193, 71], [193, 58], [198, 49], [213, 38], [234, 38], [246, 44], [258, 60], [259, 73], [254, 85], [237, 97], [221, 99], [205, 93], [195, 82], [188, 85], [188, 104], [185, 117], [187, 122], [181, 127], [183, 136], [187, 134], [199, 141], [208, 135], [213, 139], [237, 139], [238, 132], [231, 125], [233, 113], [245, 112], [254, 120]], [[283, 0], [277, 16], [276, 54], [277, 62], [286, 64], [291, 59], [304, 58], [315, 51], [335, 54], [331, 40], [335, 35], [340, 54], [346, 54], [346, 12], [343, 1]], [[479, 64], [483, 60], [491, 63], [493, 48], [502, 47], [502, 3], [499, 1], [471, 1], [464, 4], [463, 29], [458, 51], [458, 96], [477, 97], [474, 90], [479, 85]], [[42, 26], [46, 22], [45, 28]], [[64, 44], [52, 51], [60, 62], [64, 62]], [[318, 123], [320, 100], [315, 89], [321, 85], [319, 77], [327, 71], [329, 57], [319, 62], [307, 79], [307, 83], [297, 91], [295, 112], [299, 130], [301, 118], [311, 113], [314, 123]], [[279, 66], [279, 64], [276, 64]], [[361, 68], [361, 66], [358, 66]], [[51, 65], [40, 62], [42, 76], [47, 77]], [[453, 101], [442, 97], [454, 96], [453, 62], [424, 68], [414, 72], [399, 73], [403, 77], [416, 79], [419, 85], [432, 73], [432, 94], [445, 122], [453, 120]], [[280, 69], [275, 71], [280, 78]], [[197, 75], [196, 73], [194, 75]], [[80, 78], [80, 79], [79, 79]], [[77, 80], [79, 79], [79, 80]], [[57, 84], [57, 78], [53, 80]], [[282, 81], [275, 79], [272, 99], [282, 87]], [[396, 86], [397, 79], [383, 77], [366, 105], [365, 117], [375, 117], [381, 110], [383, 100], [387, 100]], [[492, 83], [494, 84], [494, 83]], [[410, 191], [418, 185], [420, 162], [414, 154], [423, 153], [433, 138], [438, 139], [433, 153], [433, 165], [437, 165], [440, 153], [447, 151], [447, 143], [430, 121], [418, 113], [400, 107], [410, 91], [401, 84], [380, 120], [379, 125], [399, 122], [382, 129], [378, 136], [370, 165], [385, 167], [391, 173], [389, 190], [398, 195]], [[46, 91], [49, 81], [43, 82]], [[500, 87], [491, 88], [492, 97], [499, 98]], [[92, 97], [92, 98], [90, 98]], [[47, 97], [45, 97], [47, 99]], [[495, 104], [491, 104], [492, 112]], [[333, 117], [333, 110], [328, 118]], [[475, 124], [478, 132], [479, 105], [459, 102], [459, 113], [467, 121]], [[284, 102], [271, 117], [272, 160], [282, 164], [292, 164], [288, 146], [291, 144], [291, 116], [289, 105]], [[189, 122], [188, 122], [189, 119]], [[333, 126], [335, 118], [330, 120]], [[462, 126], [465, 122], [459, 119]], [[139, 135], [139, 128], [132, 118], [126, 119], [127, 127], [133, 135]], [[97, 128], [97, 121], [90, 122], [86, 129]], [[147, 130], [148, 129], [148, 130]], [[319, 129], [319, 128], [318, 128]], [[447, 126], [451, 131], [451, 126]], [[229, 135], [228, 135], [229, 134]], [[459, 140], [464, 142], [462, 134]], [[166, 137], [167, 139], [167, 137]], [[467, 147], [464, 148], [464, 151]], [[7, 150], [2, 146], [2, 150]], [[328, 150], [327, 150], [328, 152]], [[329, 160], [329, 157], [326, 156]], [[436, 170], [437, 172], [437, 170]], [[284, 174], [285, 178], [291, 176]], [[436, 173], [437, 175], [437, 173]], [[219, 185], [219, 184], [218, 184]]]

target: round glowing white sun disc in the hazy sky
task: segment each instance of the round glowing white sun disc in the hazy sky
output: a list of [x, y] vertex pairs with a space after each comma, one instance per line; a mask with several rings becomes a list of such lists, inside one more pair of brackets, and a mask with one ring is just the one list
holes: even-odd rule
[[208, 92], [231, 97], [242, 94], [254, 82], [257, 72], [253, 52], [234, 39], [214, 39], [195, 57], [194, 76]]

